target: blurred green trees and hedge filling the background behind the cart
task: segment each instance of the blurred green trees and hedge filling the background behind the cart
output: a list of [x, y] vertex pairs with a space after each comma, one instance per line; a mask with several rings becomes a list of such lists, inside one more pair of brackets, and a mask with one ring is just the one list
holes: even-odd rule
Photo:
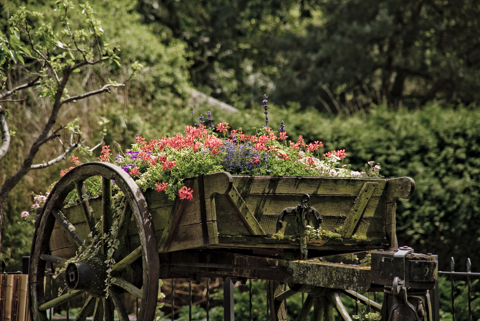
[[[73, 1], [78, 7], [79, 0]], [[105, 29], [120, 46], [122, 65], [108, 72], [126, 78], [134, 61], [138, 76], [110, 95], [72, 103], [58, 124], [76, 117], [84, 139], [126, 149], [135, 135], [159, 138], [192, 124], [192, 93], [229, 103], [227, 112], [195, 103], [194, 117], [213, 111], [217, 122], [251, 133], [262, 126], [262, 96], [269, 96], [274, 130], [285, 121], [292, 140], [321, 140], [324, 151], [346, 149], [360, 169], [381, 163], [388, 178], [417, 183], [397, 207], [401, 245], [459, 266], [480, 258], [480, 4], [473, 0], [91, 0]], [[0, 28], [19, 6], [57, 18], [54, 1], [0, 3]], [[19, 66], [11, 77], [21, 78]], [[96, 88], [101, 69], [75, 75], [79, 88]], [[0, 163], [0, 183], [16, 171], [31, 133], [49, 111], [32, 89], [21, 103], [6, 102], [14, 131]], [[114, 144], [117, 142], [120, 147]], [[95, 145], [95, 144], [91, 144]], [[52, 144], [38, 156], [49, 159]], [[94, 151], [99, 153], [99, 151]], [[81, 159], [85, 155], [76, 155]], [[95, 156], [95, 155], [94, 155]], [[94, 158], [90, 158], [93, 160]], [[57, 181], [64, 160], [30, 172], [7, 200], [0, 260], [20, 268], [30, 249], [32, 225], [19, 225], [31, 192]], [[457, 266], [458, 266], [457, 265]], [[462, 270], [462, 267], [458, 268]], [[463, 268], [464, 269], [464, 268]]]

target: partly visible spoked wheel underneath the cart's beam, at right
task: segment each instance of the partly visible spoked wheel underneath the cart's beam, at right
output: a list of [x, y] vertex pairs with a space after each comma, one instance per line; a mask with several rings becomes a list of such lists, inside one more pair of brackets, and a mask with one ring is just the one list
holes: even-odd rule
[[[373, 300], [363, 297], [359, 293], [348, 290], [338, 290], [326, 287], [309, 287], [295, 284], [289, 285], [284, 291], [284, 284], [276, 281], [268, 281], [268, 305], [272, 321], [287, 321], [287, 310], [285, 300], [296, 293], [306, 294], [303, 305], [295, 321], [305, 321], [313, 307], [312, 321], [335, 321], [334, 310], [342, 317], [342, 320], [352, 321], [351, 314], [343, 305], [340, 294], [355, 298], [364, 304], [370, 304], [373, 310], [381, 312], [382, 306]], [[325, 317], [325, 319], [323, 319]]]

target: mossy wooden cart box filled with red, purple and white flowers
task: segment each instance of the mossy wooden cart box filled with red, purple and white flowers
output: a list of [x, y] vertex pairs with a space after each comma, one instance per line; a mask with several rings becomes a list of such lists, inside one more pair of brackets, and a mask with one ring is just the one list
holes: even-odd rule
[[[302, 136], [288, 141], [283, 121], [279, 132], [264, 126], [249, 136], [227, 123], [214, 126], [210, 113], [206, 126], [202, 115], [199, 119], [201, 124], [173, 137], [137, 137], [131, 149], [116, 156], [104, 146], [99, 158], [120, 166], [144, 191], [159, 252], [198, 247], [351, 251], [394, 244], [395, 201], [410, 197], [412, 179], [384, 179], [373, 161], [363, 172], [352, 171], [342, 164], [345, 150], [320, 153], [321, 141], [307, 144]], [[76, 157], [72, 162], [80, 164]], [[94, 178], [85, 182], [92, 207], [100, 185]], [[75, 205], [78, 196], [72, 194], [69, 202], [64, 214], [82, 234], [86, 223]], [[131, 229], [129, 235], [130, 247], [138, 246], [138, 232]], [[74, 253], [62, 247], [60, 229], [51, 239], [52, 255]]]

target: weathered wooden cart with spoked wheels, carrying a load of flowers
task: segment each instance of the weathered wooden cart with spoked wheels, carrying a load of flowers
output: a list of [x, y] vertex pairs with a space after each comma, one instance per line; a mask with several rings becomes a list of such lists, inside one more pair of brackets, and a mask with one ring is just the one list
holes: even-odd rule
[[[94, 176], [101, 177], [102, 194], [86, 199], [84, 181]], [[126, 199], [115, 218], [112, 183]], [[395, 202], [412, 195], [411, 178], [252, 177], [218, 172], [192, 178], [186, 185], [193, 189], [193, 198], [171, 201], [163, 192], [142, 192], [113, 164], [86, 163], [65, 174], [48, 196], [32, 243], [33, 319], [46, 321], [46, 310], [87, 293], [77, 320], [87, 316], [113, 320], [113, 310], [120, 320], [128, 320], [121, 299], [121, 293], [128, 291], [141, 299], [138, 320], [149, 321], [154, 319], [159, 278], [231, 277], [272, 281], [269, 304], [274, 321], [286, 320], [283, 300], [299, 291], [309, 295], [298, 320], [305, 320], [312, 305], [323, 305], [325, 313], [333, 305], [351, 320], [338, 298], [340, 290], [351, 294], [390, 286], [398, 297], [404, 288], [425, 291], [436, 281], [433, 256], [405, 248], [388, 251], [396, 247]], [[83, 201], [64, 206], [71, 192]], [[70, 291], [46, 300], [46, 269], [64, 266], [76, 252], [85, 251], [92, 236], [108, 235], [114, 222], [118, 229], [111, 234], [119, 241], [118, 248], [112, 249], [110, 242], [97, 255], [69, 263], [65, 278]], [[375, 250], [372, 267], [322, 262], [326, 255], [367, 250]], [[115, 264], [108, 264], [108, 257]], [[418, 263], [408, 263], [415, 261], [421, 271]], [[105, 298], [108, 273], [111, 286]], [[286, 282], [290, 289], [284, 292]], [[384, 305], [384, 314], [395, 305], [392, 302], [388, 310]]]

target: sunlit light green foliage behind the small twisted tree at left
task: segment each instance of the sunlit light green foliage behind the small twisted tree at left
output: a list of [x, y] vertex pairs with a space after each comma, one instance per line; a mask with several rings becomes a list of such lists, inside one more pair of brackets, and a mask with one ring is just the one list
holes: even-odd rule
[[[101, 95], [96, 98], [90, 97], [88, 100], [72, 102], [60, 112], [57, 118], [57, 124], [65, 125], [67, 130], [72, 131], [74, 137], [81, 138], [85, 143], [91, 141], [104, 141], [112, 144], [117, 141], [123, 147], [129, 147], [135, 139], [135, 135], [160, 136], [169, 131], [179, 131], [184, 120], [179, 117], [183, 102], [189, 97], [190, 85], [188, 83], [188, 69], [186, 58], [184, 57], [184, 44], [179, 40], [173, 40], [169, 43], [162, 43], [161, 39], [152, 33], [152, 30], [139, 22], [139, 14], [133, 10], [136, 5], [132, 0], [121, 1], [94, 1], [92, 7], [95, 8], [94, 19], [90, 16], [85, 20], [86, 13], [81, 13], [80, 4], [83, 1], [40, 3], [38, 1], [9, 1], [8, 5], [1, 5], [0, 12], [0, 31], [2, 37], [9, 40], [5, 42], [0, 40], [4, 48], [7, 46], [12, 51], [17, 50], [19, 55], [24, 54], [25, 68], [34, 70], [32, 59], [25, 57], [31, 54], [35, 56], [32, 48], [26, 45], [28, 37], [20, 36], [21, 45], [16, 44], [15, 32], [10, 31], [7, 23], [9, 14], [12, 19], [21, 21], [23, 16], [28, 19], [25, 23], [31, 25], [32, 33], [42, 32], [42, 39], [50, 39], [48, 48], [56, 48], [60, 51], [59, 55], [52, 56], [55, 63], [67, 64], [71, 62], [71, 55], [77, 53], [66, 49], [72, 48], [72, 41], [69, 40], [68, 33], [65, 33], [64, 22], [65, 8], [67, 8], [67, 18], [71, 21], [72, 34], [81, 39], [79, 45], [87, 44], [87, 38], [91, 37], [91, 30], [96, 30], [102, 47], [110, 44], [112, 50], [115, 47], [115, 59], [112, 56], [102, 66], [91, 66], [90, 69], [72, 70], [70, 76], [71, 87], [64, 97], [76, 95], [82, 92], [96, 90], [103, 86], [110, 78], [117, 78], [121, 81], [127, 80], [132, 71], [136, 71], [131, 81], [127, 81], [125, 88], [118, 91], [112, 91], [112, 95]], [[82, 3], [79, 3], [82, 2]], [[26, 9], [21, 14], [13, 15], [20, 7], [25, 5]], [[75, 9], [69, 9], [69, 7]], [[56, 11], [55, 11], [56, 9]], [[80, 9], [80, 16], [70, 14]], [[83, 19], [82, 19], [83, 16]], [[36, 26], [35, 23], [43, 21], [44, 26]], [[101, 28], [99, 23], [101, 21]], [[74, 26], [74, 27], [73, 27]], [[67, 29], [68, 32], [68, 29]], [[10, 45], [12, 42], [12, 46]], [[63, 48], [60, 47], [63, 46]], [[25, 49], [26, 48], [26, 49]], [[4, 48], [5, 49], [5, 48]], [[29, 53], [26, 50], [29, 49]], [[96, 47], [92, 50], [97, 50]], [[7, 52], [8, 53], [8, 52]], [[110, 55], [112, 51], [105, 51]], [[4, 55], [5, 50], [0, 52]], [[23, 81], [30, 75], [27, 69], [22, 66], [22, 62], [17, 60], [14, 63], [12, 57], [8, 56], [5, 62], [2, 62], [2, 69], [9, 73], [6, 85], [15, 85], [15, 81]], [[88, 52], [85, 52], [88, 55]], [[121, 67], [116, 63], [118, 61]], [[9, 64], [9, 65], [8, 65]], [[10, 66], [10, 67], [9, 67]], [[141, 66], [144, 68], [142, 69]], [[10, 71], [9, 71], [10, 70]], [[4, 73], [5, 74], [5, 73]], [[61, 74], [60, 74], [61, 76]], [[1, 78], [1, 77], [0, 77]], [[3, 83], [3, 82], [2, 82]], [[5, 84], [4, 84], [5, 85]], [[55, 83], [44, 82], [44, 89], [35, 87], [28, 91], [20, 92], [13, 100], [18, 102], [3, 102], [2, 106], [6, 108], [7, 121], [12, 135], [10, 149], [2, 160], [2, 175], [0, 175], [0, 184], [5, 178], [10, 177], [16, 172], [24, 160], [24, 151], [34, 143], [37, 133], [41, 132], [41, 124], [48, 120], [51, 108], [48, 106], [48, 100], [53, 94]], [[38, 96], [48, 96], [45, 98]], [[47, 99], [47, 100], [45, 100]], [[88, 115], [86, 117], [85, 115]], [[183, 115], [183, 114], [181, 114]], [[103, 118], [102, 118], [103, 117]], [[100, 122], [100, 123], [99, 123]], [[172, 129], [174, 128], [174, 129]], [[56, 128], [55, 128], [56, 129]], [[68, 142], [70, 133], [61, 133], [62, 142]], [[52, 155], [58, 155], [63, 152], [60, 144], [49, 142], [39, 150], [35, 161], [48, 161]], [[83, 149], [76, 152], [81, 159], [89, 158], [92, 154], [99, 154], [97, 149]], [[67, 165], [68, 164], [68, 165]], [[1, 242], [0, 260], [5, 259], [8, 271], [20, 269], [21, 256], [27, 255], [31, 245], [31, 235], [33, 233], [33, 224], [24, 224], [18, 226], [16, 222], [20, 221], [20, 213], [29, 209], [32, 204], [31, 192], [36, 194], [48, 190], [50, 183], [58, 180], [58, 174], [64, 167], [69, 167], [68, 160], [52, 165], [41, 172], [29, 172], [24, 180], [17, 185], [9, 198], [6, 200], [4, 212], [4, 224], [2, 226], [4, 238]]]

